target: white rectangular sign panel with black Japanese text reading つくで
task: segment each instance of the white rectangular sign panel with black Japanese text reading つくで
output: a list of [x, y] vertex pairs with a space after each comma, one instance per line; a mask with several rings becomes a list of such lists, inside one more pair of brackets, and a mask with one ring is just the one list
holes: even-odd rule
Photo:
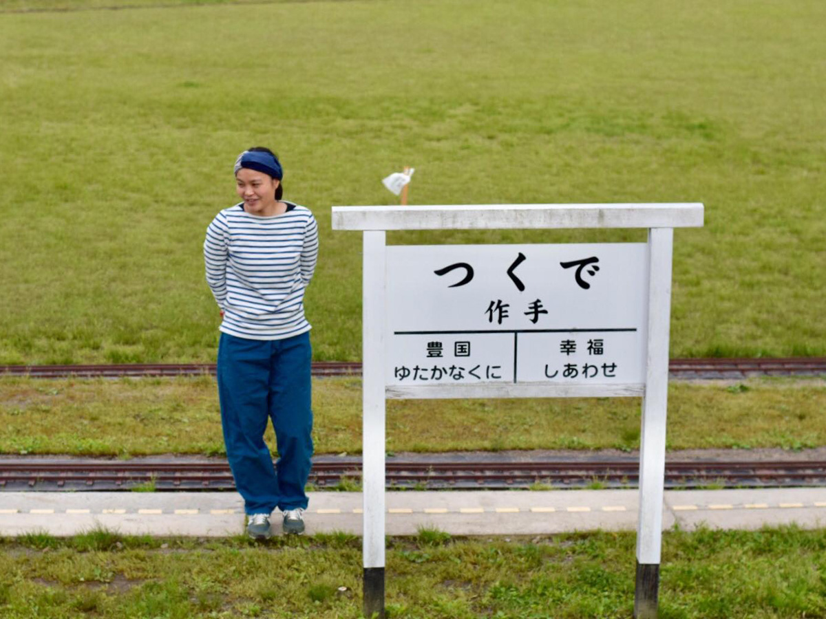
[[647, 272], [645, 243], [387, 247], [386, 384], [643, 385]]

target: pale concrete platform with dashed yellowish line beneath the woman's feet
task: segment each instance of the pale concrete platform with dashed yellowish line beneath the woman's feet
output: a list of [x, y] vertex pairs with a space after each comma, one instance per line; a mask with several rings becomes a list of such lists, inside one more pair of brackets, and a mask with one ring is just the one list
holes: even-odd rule
[[[434, 527], [452, 535], [543, 535], [573, 531], [633, 531], [637, 490], [388, 492], [387, 534], [415, 535]], [[307, 534], [362, 532], [362, 495], [310, 494]], [[273, 515], [274, 532], [280, 517]], [[826, 527], [826, 489], [671, 490], [662, 526], [756, 529], [795, 523]], [[48, 532], [70, 536], [94, 527], [126, 535], [223, 537], [244, 532], [244, 505], [235, 493], [0, 493], [0, 536]]]

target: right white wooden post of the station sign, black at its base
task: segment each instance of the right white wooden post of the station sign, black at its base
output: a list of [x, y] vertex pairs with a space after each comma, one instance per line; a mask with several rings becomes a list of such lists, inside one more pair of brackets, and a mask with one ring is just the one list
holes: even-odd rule
[[668, 337], [674, 229], [648, 229], [648, 334], [639, 449], [639, 517], [634, 617], [656, 619], [666, 467]]

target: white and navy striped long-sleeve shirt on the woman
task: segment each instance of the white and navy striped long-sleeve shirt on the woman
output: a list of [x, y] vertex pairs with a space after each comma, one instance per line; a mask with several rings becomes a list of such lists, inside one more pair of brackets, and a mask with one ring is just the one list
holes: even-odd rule
[[318, 226], [309, 209], [286, 204], [287, 212], [271, 217], [237, 204], [207, 228], [207, 283], [224, 310], [223, 333], [282, 339], [310, 330], [304, 289], [316, 269]]

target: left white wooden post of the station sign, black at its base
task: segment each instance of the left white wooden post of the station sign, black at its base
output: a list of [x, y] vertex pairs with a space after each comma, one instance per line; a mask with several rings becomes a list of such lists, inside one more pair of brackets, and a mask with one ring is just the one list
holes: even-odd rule
[[384, 619], [385, 232], [365, 230], [362, 281], [363, 611]]

